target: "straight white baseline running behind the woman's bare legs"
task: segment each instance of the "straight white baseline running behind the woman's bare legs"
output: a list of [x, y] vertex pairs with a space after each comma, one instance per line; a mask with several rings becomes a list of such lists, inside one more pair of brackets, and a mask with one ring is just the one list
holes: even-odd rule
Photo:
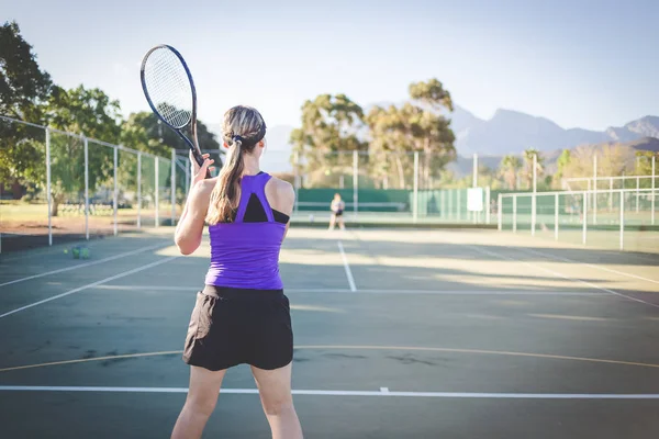
[[[46, 385], [0, 385], [0, 392], [119, 392], [119, 393], [188, 393], [187, 387], [91, 387]], [[221, 394], [258, 395], [256, 389], [222, 389]], [[436, 398], [495, 398], [495, 399], [659, 399], [656, 393], [480, 393], [480, 392], [392, 392], [293, 390], [293, 395], [313, 396], [406, 396]]]

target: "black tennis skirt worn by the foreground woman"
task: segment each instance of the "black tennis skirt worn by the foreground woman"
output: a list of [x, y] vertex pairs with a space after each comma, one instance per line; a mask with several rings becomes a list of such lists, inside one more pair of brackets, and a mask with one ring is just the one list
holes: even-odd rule
[[290, 304], [282, 290], [205, 285], [197, 293], [186, 363], [211, 371], [244, 363], [272, 370], [292, 359]]

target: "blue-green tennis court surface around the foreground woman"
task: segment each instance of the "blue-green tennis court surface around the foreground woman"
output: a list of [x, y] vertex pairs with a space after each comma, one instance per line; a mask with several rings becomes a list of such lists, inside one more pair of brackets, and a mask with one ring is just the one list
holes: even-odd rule
[[[0, 437], [166, 438], [208, 243], [3, 254]], [[293, 228], [281, 273], [308, 438], [659, 437], [659, 255], [494, 230]], [[204, 438], [269, 438], [247, 367]]]

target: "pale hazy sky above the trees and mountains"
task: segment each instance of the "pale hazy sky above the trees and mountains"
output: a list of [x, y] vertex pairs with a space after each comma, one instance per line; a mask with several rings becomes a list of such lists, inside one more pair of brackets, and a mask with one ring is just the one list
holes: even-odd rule
[[400, 101], [432, 77], [484, 119], [504, 108], [604, 130], [657, 115], [657, 16], [656, 0], [0, 0], [60, 86], [147, 110], [139, 63], [167, 43], [192, 70], [200, 119], [244, 103], [269, 126], [297, 125], [320, 93]]

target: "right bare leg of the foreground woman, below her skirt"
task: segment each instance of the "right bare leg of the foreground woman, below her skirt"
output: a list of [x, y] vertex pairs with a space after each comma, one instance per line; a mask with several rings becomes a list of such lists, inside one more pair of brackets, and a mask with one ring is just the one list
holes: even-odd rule
[[302, 427], [291, 394], [292, 362], [280, 369], [252, 367], [272, 439], [301, 439]]

